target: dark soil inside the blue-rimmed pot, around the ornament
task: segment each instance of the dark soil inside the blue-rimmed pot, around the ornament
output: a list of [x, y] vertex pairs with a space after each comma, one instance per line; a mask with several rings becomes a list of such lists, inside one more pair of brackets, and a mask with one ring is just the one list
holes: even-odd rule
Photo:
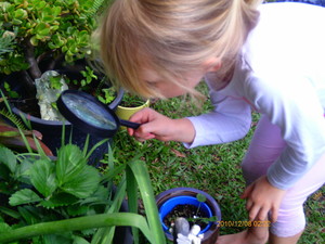
[[[197, 207], [191, 204], [177, 205], [168, 215], [165, 216], [162, 221], [168, 228], [170, 228], [178, 217], [187, 219], [190, 228], [197, 224], [203, 230], [208, 226], [208, 222], [202, 220], [202, 218], [208, 218], [208, 215], [202, 210], [197, 210]], [[195, 220], [196, 218], [198, 219]]]

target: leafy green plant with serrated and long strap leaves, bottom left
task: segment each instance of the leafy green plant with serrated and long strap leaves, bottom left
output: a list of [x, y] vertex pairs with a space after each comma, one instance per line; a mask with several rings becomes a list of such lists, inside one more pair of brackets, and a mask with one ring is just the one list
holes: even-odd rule
[[[10, 111], [2, 114], [14, 116]], [[17, 137], [2, 134], [16, 132], [13, 129], [0, 129], [0, 136]], [[151, 243], [165, 243], [144, 162], [134, 158], [116, 166], [109, 150], [105, 169], [95, 168], [87, 160], [96, 145], [88, 152], [88, 142], [83, 150], [63, 144], [53, 157], [35, 137], [37, 150], [30, 150], [28, 131], [18, 131], [27, 152], [10, 150], [0, 142], [0, 243], [28, 239], [37, 243], [131, 244], [139, 239], [136, 228]], [[138, 214], [138, 191], [146, 218]], [[127, 213], [127, 192], [132, 213]], [[134, 227], [133, 237], [128, 226]]]

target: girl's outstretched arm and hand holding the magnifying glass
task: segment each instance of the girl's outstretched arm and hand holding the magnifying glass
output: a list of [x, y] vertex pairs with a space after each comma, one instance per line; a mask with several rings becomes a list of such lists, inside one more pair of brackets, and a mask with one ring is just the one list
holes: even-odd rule
[[130, 120], [143, 124], [128, 129], [139, 141], [157, 139], [183, 142], [186, 147], [238, 140], [248, 132], [251, 123], [250, 106], [235, 95], [210, 92], [214, 110], [196, 117], [171, 119], [151, 108], [134, 114]]

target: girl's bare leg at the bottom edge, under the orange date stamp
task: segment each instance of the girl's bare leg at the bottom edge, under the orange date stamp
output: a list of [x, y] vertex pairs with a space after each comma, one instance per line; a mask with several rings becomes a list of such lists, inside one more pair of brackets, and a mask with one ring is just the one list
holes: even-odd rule
[[221, 235], [216, 244], [264, 244], [268, 239], [268, 227], [251, 227], [236, 234]]

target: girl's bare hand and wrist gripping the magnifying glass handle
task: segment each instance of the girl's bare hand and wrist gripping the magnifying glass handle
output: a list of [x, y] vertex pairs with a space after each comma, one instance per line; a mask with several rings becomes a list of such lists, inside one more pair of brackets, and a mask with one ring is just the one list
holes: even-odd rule
[[195, 129], [188, 119], [171, 119], [152, 108], [136, 112], [130, 120], [142, 124], [136, 130], [128, 128], [129, 134], [139, 141], [155, 138], [160, 141], [191, 143], [195, 137]]

